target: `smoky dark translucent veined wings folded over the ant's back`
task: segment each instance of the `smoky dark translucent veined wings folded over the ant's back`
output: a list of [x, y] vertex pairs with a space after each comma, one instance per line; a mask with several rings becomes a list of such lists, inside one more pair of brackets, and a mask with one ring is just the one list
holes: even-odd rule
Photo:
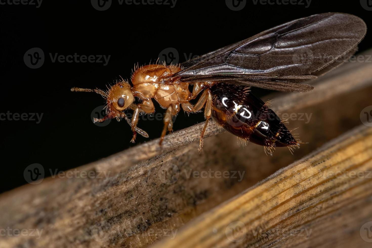
[[187, 82], [230, 81], [281, 91], [308, 91], [312, 87], [296, 84], [342, 64], [356, 52], [365, 33], [366, 25], [359, 17], [313, 15], [190, 59], [181, 64], [185, 69], [172, 77]]

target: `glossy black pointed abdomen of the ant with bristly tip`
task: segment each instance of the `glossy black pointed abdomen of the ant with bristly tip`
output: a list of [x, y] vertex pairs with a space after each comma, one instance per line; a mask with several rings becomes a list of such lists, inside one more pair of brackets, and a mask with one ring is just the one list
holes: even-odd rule
[[212, 116], [230, 133], [263, 146], [297, 144], [275, 112], [246, 86], [219, 83], [211, 90]]

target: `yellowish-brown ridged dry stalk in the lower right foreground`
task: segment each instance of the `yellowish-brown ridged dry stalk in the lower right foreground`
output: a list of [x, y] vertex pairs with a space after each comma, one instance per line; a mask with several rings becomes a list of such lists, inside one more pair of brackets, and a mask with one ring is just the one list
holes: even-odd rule
[[372, 128], [362, 125], [153, 247], [371, 247], [371, 189]]

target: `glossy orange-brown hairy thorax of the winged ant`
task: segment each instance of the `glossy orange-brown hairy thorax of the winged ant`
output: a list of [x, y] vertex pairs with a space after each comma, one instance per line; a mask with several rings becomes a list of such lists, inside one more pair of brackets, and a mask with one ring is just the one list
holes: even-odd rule
[[189, 102], [189, 83], [179, 82], [170, 77], [180, 71], [175, 65], [145, 65], [132, 75], [133, 93], [142, 99], [154, 98], [162, 107]]

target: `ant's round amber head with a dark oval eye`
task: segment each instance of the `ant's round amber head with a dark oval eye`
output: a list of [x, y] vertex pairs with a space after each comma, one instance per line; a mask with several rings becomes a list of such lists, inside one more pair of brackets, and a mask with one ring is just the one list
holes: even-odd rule
[[131, 86], [126, 81], [121, 81], [112, 86], [107, 94], [107, 103], [115, 110], [123, 111], [134, 102]]

